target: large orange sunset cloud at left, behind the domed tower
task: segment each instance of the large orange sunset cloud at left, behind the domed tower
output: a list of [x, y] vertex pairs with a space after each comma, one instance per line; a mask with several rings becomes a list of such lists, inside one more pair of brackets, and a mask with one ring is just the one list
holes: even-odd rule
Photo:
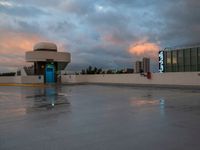
[[42, 37], [29, 33], [1, 31], [0, 35], [0, 64], [9, 67], [19, 67], [26, 64], [25, 52], [30, 51], [33, 45]]

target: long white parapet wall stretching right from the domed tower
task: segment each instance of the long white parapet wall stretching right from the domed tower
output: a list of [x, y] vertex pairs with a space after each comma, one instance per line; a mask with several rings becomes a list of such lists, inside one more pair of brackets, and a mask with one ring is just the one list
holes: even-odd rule
[[153, 73], [151, 76], [147, 79], [140, 74], [63, 75], [62, 83], [200, 86], [200, 72]]

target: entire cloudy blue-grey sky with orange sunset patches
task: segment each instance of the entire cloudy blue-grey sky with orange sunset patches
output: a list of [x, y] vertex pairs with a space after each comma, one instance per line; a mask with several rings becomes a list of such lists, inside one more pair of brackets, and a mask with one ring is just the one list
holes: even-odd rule
[[165, 47], [200, 43], [199, 0], [0, 0], [0, 72], [27, 65], [39, 41], [69, 51], [70, 70], [132, 67], [143, 56], [157, 69]]

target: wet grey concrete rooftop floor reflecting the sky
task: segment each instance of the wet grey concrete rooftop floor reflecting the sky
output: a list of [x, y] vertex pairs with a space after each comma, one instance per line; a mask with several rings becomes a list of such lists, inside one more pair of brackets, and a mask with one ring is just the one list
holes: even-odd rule
[[200, 91], [0, 87], [0, 150], [199, 150]]

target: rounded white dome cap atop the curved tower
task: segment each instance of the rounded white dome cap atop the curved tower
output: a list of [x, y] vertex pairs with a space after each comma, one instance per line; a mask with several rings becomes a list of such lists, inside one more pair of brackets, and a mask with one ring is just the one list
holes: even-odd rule
[[57, 52], [57, 46], [50, 42], [40, 42], [34, 45], [34, 51], [54, 51]]

